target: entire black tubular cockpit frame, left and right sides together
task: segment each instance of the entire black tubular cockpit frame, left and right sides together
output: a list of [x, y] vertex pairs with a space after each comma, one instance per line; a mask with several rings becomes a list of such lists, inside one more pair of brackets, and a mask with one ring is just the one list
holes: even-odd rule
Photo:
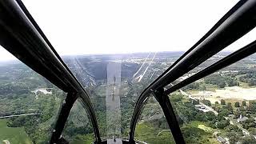
[[[174, 82], [183, 74], [186, 74], [214, 54], [223, 50], [226, 46], [238, 40], [238, 38], [241, 38], [244, 34], [254, 29], [255, 26], [256, 1], [239, 1], [190, 50], [187, 50], [173, 65], [156, 78], [150, 86], [143, 90], [136, 102], [134, 114], [131, 118], [129, 143], [135, 143], [135, 126], [150, 94], [153, 94], [154, 98], [158, 100], [175, 142], [185, 143], [174, 114], [174, 109], [167, 95], [191, 82], [195, 82], [200, 78], [213, 74], [215, 71], [230, 66], [230, 64], [238, 62], [250, 54], [254, 54], [256, 52], [256, 41], [226, 56], [226, 58], [222, 58], [190, 78], [186, 78], [182, 82], [171, 86], [168, 90], [164, 88], [170, 82]], [[62, 103], [50, 143], [63, 141], [61, 136], [62, 130], [70, 110], [78, 98], [81, 98], [90, 116], [94, 127], [95, 143], [106, 143], [106, 141], [102, 142], [100, 138], [95, 110], [89, 95], [54, 50], [54, 47], [50, 44], [45, 34], [43, 34], [29, 11], [26, 10], [21, 0], [0, 0], [0, 45], [67, 93], [65, 101]]]

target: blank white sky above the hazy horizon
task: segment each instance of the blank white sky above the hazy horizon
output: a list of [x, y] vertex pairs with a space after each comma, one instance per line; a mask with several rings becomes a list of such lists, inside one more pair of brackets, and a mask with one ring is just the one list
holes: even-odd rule
[[[238, 0], [22, 0], [60, 55], [186, 51]], [[251, 30], [225, 50], [253, 42]], [[0, 60], [13, 58], [0, 48]]]

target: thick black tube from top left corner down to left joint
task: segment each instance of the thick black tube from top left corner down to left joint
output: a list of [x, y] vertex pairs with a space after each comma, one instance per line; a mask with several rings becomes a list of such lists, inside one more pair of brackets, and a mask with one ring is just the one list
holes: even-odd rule
[[[78, 90], [62, 63], [14, 0], [0, 1], [0, 44], [65, 92]], [[39, 69], [38, 67], [42, 67]]]

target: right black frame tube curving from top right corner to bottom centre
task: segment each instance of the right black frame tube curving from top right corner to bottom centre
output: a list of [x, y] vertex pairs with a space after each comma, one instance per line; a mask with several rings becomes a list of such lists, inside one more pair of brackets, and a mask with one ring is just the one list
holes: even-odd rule
[[[150, 84], [139, 96], [134, 114], [130, 123], [130, 142], [134, 142], [135, 126], [138, 116], [142, 112], [143, 102], [149, 96], [150, 91], [160, 91], [174, 80], [186, 74], [206, 59], [223, 50], [226, 46], [241, 38], [244, 34], [256, 26], [256, 1], [242, 0], [238, 2], [217, 24], [194, 46], [190, 48], [177, 62], [174, 62], [168, 70]], [[163, 92], [163, 94], [165, 94]], [[155, 96], [156, 97], [156, 96]], [[158, 99], [156, 97], [156, 99]], [[171, 109], [172, 107], [169, 106]], [[162, 107], [162, 109], [165, 109]], [[167, 115], [165, 115], [167, 116]], [[174, 124], [172, 124], [174, 125]], [[171, 127], [171, 126], [170, 126]], [[175, 131], [182, 135], [181, 130]], [[174, 134], [174, 133], [173, 133]], [[177, 143], [183, 143], [184, 139], [178, 139]]]

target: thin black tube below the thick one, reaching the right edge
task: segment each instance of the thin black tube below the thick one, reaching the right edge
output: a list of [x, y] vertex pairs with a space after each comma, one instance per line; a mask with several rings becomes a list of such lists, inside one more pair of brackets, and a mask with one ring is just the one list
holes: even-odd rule
[[237, 50], [234, 53], [226, 56], [226, 58], [222, 58], [218, 62], [215, 62], [213, 65], [206, 67], [206, 69], [201, 70], [200, 72], [198, 72], [197, 74], [194, 74], [190, 78], [186, 78], [182, 82], [179, 82], [174, 86], [171, 86], [168, 90], [164, 92], [164, 94], [170, 94], [171, 92], [174, 92], [175, 90], [178, 90], [183, 86], [186, 86], [192, 82], [195, 82], [200, 78], [204, 78], [207, 75], [213, 74], [214, 72], [221, 70], [226, 66], [230, 66], [234, 62], [238, 62], [242, 58], [246, 58], [250, 56], [250, 54], [254, 54], [255, 52], [256, 52], [256, 41], [251, 42], [249, 45], [243, 47], [242, 49]]

